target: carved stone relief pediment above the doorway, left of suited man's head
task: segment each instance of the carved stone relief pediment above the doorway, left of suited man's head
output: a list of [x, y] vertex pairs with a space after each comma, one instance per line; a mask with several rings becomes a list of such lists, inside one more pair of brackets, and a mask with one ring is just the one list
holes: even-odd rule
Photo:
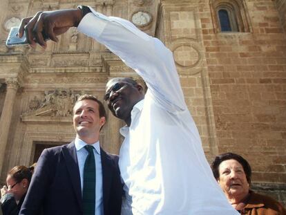
[[35, 96], [28, 111], [21, 115], [23, 122], [73, 122], [73, 105], [78, 93], [69, 89], [45, 91], [44, 99]]

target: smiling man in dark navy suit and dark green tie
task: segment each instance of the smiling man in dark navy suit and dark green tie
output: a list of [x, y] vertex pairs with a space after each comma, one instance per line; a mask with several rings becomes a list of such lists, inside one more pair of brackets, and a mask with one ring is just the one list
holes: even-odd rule
[[[118, 157], [99, 147], [99, 131], [105, 120], [102, 102], [92, 95], [79, 97], [73, 108], [75, 140], [41, 153], [19, 214], [120, 214], [122, 184]], [[94, 147], [95, 162], [95, 179], [91, 180], [95, 191], [91, 195], [93, 200], [88, 203], [93, 209], [89, 213], [86, 212], [87, 183], [84, 177], [86, 160], [93, 155], [86, 146]]]

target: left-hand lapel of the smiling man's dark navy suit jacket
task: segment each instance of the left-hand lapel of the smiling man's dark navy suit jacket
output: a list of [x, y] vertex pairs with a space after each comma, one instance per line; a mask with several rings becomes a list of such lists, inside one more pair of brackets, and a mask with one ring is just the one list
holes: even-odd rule
[[66, 160], [66, 167], [70, 174], [70, 180], [73, 184], [73, 189], [77, 196], [77, 201], [82, 209], [82, 188], [80, 185], [79, 167], [77, 163], [77, 153], [75, 151], [75, 142], [70, 142], [67, 147], [63, 147], [64, 159]]

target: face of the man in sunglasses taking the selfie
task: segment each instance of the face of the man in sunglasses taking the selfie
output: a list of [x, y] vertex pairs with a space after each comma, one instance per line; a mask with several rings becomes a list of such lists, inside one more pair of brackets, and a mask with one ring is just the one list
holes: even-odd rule
[[104, 100], [115, 117], [131, 124], [133, 106], [144, 98], [142, 86], [128, 78], [114, 78], [106, 84]]

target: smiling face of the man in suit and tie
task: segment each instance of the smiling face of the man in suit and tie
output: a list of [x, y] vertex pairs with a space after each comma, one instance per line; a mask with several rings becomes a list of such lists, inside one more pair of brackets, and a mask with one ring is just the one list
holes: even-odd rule
[[99, 140], [100, 128], [105, 123], [105, 117], [99, 116], [99, 104], [94, 100], [82, 100], [73, 108], [73, 127], [77, 137], [87, 144]]

